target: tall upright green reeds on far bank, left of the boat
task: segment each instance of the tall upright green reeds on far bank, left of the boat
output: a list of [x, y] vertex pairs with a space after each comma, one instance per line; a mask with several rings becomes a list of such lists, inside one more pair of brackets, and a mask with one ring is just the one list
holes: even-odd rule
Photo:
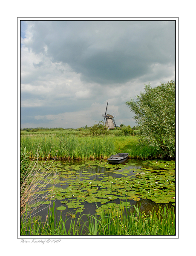
[[22, 136], [20, 140], [21, 150], [34, 157], [37, 148], [40, 148], [39, 158], [72, 158], [72, 159], [97, 159], [107, 158], [114, 153], [114, 143], [110, 137], [92, 138], [76, 137], [73, 135], [56, 136]]

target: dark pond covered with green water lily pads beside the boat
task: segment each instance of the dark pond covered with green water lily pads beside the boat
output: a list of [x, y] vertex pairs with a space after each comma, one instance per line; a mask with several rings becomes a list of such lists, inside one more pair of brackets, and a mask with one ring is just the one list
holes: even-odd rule
[[43, 220], [51, 202], [55, 202], [58, 217], [63, 214], [70, 219], [95, 211], [100, 214], [113, 203], [140, 205], [140, 211], [146, 213], [159, 205], [175, 206], [175, 161], [129, 159], [115, 165], [108, 161], [46, 161], [37, 168], [43, 180], [37, 183], [40, 191], [29, 210]]

